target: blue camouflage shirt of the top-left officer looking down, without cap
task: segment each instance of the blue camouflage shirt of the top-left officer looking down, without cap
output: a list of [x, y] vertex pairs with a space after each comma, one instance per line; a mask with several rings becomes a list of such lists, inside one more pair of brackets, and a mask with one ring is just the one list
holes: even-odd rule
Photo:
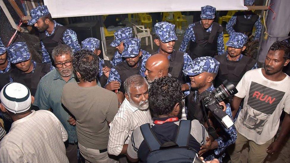
[[[62, 26], [61, 24], [57, 23], [55, 20], [53, 20], [53, 22], [54, 22], [53, 31], [51, 32], [51, 34], [49, 34], [47, 31], [45, 31], [46, 36], [51, 36], [52, 34], [54, 34], [56, 25]], [[77, 38], [77, 34], [75, 33], [75, 31], [73, 31], [71, 29], [65, 30], [64, 34], [62, 36], [62, 40], [64, 41], [64, 43], [66, 45], [69, 45], [73, 49], [73, 53], [75, 53], [78, 50], [81, 50], [81, 46], [78, 43], [78, 38]], [[51, 63], [49, 54], [48, 54], [43, 42], [40, 41], [40, 44], [41, 44], [41, 50], [42, 50], [42, 63]]]

